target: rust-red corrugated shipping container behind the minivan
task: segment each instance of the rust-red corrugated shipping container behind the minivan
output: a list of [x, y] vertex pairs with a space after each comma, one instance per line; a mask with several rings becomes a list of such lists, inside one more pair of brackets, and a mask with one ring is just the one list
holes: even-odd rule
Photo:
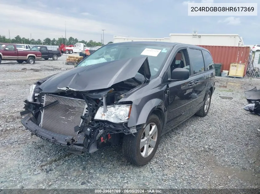
[[250, 47], [230, 47], [230, 46], [207, 46], [198, 45], [210, 51], [214, 63], [221, 63], [221, 72], [230, 70], [231, 63], [245, 63], [243, 76], [246, 75], [247, 61]]

